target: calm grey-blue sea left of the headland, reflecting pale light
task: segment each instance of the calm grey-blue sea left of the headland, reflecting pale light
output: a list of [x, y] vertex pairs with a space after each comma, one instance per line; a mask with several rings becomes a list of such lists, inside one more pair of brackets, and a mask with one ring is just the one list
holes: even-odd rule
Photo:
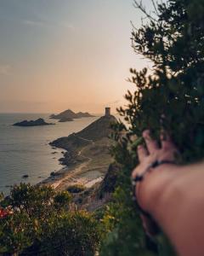
[[[38, 183], [50, 172], [59, 170], [60, 149], [51, 148], [48, 143], [58, 137], [81, 131], [99, 117], [75, 119], [73, 122], [56, 125], [18, 127], [14, 123], [24, 119], [43, 118], [48, 122], [49, 114], [0, 113], [0, 191], [8, 193], [8, 186], [14, 183]], [[53, 154], [57, 152], [57, 154]], [[23, 175], [28, 178], [22, 178]]]

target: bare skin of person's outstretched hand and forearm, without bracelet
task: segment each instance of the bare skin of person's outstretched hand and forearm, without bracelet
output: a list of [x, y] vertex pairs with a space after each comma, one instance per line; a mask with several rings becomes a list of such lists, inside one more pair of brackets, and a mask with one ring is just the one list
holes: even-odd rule
[[[139, 166], [132, 176], [144, 172], [155, 160], [174, 160], [177, 148], [161, 136], [161, 148], [144, 131], [146, 148], [139, 146]], [[204, 255], [204, 163], [191, 166], [164, 164], [152, 169], [137, 185], [140, 207], [149, 212], [172, 241], [178, 255]], [[150, 221], [142, 216], [150, 234]]]

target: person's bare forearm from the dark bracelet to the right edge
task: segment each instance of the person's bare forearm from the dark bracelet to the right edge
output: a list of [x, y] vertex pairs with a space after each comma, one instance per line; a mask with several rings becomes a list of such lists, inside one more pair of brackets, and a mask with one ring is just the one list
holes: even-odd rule
[[163, 165], [139, 187], [141, 207], [156, 219], [180, 255], [204, 255], [204, 170]]

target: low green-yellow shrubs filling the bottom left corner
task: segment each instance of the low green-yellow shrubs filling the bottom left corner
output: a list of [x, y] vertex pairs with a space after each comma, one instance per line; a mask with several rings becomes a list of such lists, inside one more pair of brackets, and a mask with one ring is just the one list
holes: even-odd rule
[[21, 183], [1, 201], [0, 253], [93, 255], [99, 244], [92, 214], [77, 211], [67, 191]]

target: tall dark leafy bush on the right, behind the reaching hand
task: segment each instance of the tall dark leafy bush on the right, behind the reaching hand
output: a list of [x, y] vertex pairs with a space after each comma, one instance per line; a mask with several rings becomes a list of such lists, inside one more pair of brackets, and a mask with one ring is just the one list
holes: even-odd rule
[[138, 164], [136, 148], [144, 129], [158, 138], [166, 130], [179, 148], [181, 163], [204, 156], [204, 1], [169, 0], [155, 4], [156, 15], [145, 13], [146, 24], [133, 28], [133, 49], [151, 62], [151, 69], [131, 69], [133, 93], [118, 109], [128, 125], [115, 126], [115, 159], [122, 166], [114, 201], [103, 219], [109, 235], [101, 255], [173, 255], [164, 236], [150, 241], [131, 201], [130, 175]]

